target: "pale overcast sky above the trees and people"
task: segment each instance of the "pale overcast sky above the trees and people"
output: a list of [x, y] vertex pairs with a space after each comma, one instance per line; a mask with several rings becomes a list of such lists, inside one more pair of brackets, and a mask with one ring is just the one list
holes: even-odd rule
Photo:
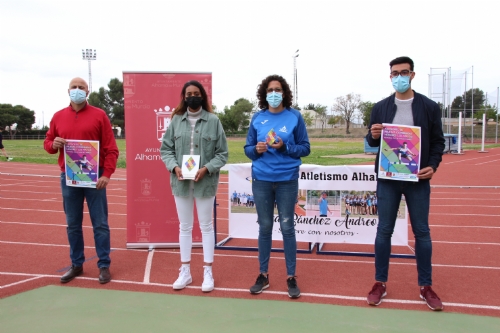
[[94, 90], [123, 71], [212, 72], [219, 110], [253, 99], [270, 74], [291, 85], [297, 49], [301, 106], [331, 107], [351, 92], [386, 97], [388, 63], [401, 55], [415, 61], [418, 92], [428, 93], [430, 68], [472, 66], [474, 87], [492, 92], [497, 8], [481, 0], [0, 0], [0, 103], [24, 105], [47, 125], [68, 104], [70, 79], [88, 79], [85, 48], [97, 50]]

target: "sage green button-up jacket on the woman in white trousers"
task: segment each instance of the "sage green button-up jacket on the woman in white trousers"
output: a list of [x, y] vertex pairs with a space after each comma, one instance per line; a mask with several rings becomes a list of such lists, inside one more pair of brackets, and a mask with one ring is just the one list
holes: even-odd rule
[[[175, 115], [163, 135], [161, 143], [161, 158], [170, 171], [170, 186], [172, 194], [178, 197], [189, 196], [190, 180], [178, 180], [175, 167], [181, 167], [182, 156], [190, 154], [191, 124], [188, 113]], [[219, 170], [227, 162], [226, 134], [219, 118], [203, 110], [196, 122], [193, 135], [193, 155], [200, 155], [200, 168], [207, 167], [208, 173], [194, 182], [195, 197], [213, 197], [219, 185]]]

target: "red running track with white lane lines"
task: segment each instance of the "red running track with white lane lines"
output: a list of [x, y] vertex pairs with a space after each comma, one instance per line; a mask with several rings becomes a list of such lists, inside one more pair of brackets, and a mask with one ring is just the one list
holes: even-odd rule
[[[489, 153], [468, 151], [445, 155], [432, 181], [430, 224], [433, 239], [434, 289], [450, 312], [500, 317], [500, 149]], [[0, 297], [59, 285], [70, 265], [65, 219], [55, 165], [0, 163]], [[228, 234], [227, 177], [221, 178], [217, 201], [217, 232]], [[368, 306], [373, 284], [373, 258], [299, 254], [297, 275], [302, 297], [289, 300], [283, 255], [273, 253], [271, 288], [258, 296], [248, 288], [258, 274], [256, 252], [216, 250], [216, 289], [203, 294], [202, 253], [194, 249], [193, 284], [174, 292], [177, 249], [126, 249], [126, 175], [119, 169], [108, 188], [113, 281], [97, 282], [92, 229], [85, 215], [84, 274], [66, 286], [204, 295], [206, 297], [259, 298], [351, 306]], [[412, 235], [411, 230], [409, 234]], [[414, 242], [410, 237], [410, 246]], [[256, 246], [255, 241], [234, 244]], [[231, 244], [233, 245], [233, 243]], [[276, 242], [280, 246], [280, 242]], [[305, 248], [306, 244], [299, 244]], [[372, 246], [328, 244], [325, 250], [372, 252]], [[395, 252], [411, 253], [409, 248]], [[418, 297], [414, 260], [391, 260], [388, 295], [379, 307], [428, 311]]]

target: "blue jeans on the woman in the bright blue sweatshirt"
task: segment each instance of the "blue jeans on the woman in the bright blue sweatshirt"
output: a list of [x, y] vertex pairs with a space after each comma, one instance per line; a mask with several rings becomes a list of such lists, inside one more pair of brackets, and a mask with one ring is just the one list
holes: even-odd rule
[[296, 179], [274, 183], [253, 179], [252, 191], [259, 222], [260, 272], [268, 272], [274, 223], [274, 202], [276, 201], [280, 231], [283, 234], [287, 275], [295, 276], [297, 241], [295, 240], [294, 218], [299, 181]]

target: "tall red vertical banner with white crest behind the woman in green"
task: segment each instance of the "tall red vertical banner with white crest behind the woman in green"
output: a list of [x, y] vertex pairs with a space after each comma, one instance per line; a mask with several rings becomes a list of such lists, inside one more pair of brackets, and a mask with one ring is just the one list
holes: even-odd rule
[[[211, 73], [123, 72], [127, 145], [127, 247], [178, 247], [179, 220], [160, 145], [187, 81], [212, 99]], [[201, 243], [195, 215], [193, 243]]]

